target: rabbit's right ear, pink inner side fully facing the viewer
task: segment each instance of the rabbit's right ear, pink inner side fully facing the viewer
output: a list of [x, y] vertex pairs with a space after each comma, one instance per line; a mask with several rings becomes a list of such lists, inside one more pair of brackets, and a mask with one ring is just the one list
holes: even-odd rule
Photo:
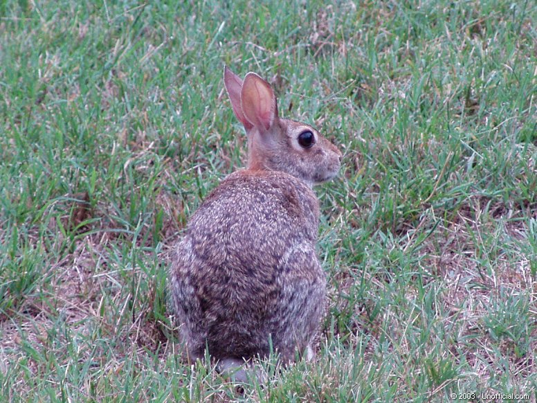
[[271, 85], [255, 73], [248, 73], [244, 78], [241, 105], [246, 119], [262, 131], [270, 129], [278, 117]]

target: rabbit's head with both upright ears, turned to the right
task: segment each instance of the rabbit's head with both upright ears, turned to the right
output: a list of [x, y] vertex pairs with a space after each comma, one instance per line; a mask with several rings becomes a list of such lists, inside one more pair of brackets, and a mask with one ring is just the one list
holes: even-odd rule
[[224, 84], [233, 112], [246, 129], [248, 170], [286, 172], [309, 186], [336, 175], [341, 152], [313, 127], [280, 118], [268, 82], [255, 73], [242, 80], [225, 67]]

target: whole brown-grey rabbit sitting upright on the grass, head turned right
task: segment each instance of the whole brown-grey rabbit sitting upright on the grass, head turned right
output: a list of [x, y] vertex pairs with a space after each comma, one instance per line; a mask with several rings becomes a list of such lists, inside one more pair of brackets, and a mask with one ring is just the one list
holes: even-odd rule
[[228, 175], [190, 218], [174, 249], [170, 294], [188, 362], [206, 348], [222, 373], [246, 382], [245, 362], [273, 351], [313, 358], [326, 278], [316, 256], [312, 186], [336, 176], [338, 148], [280, 118], [270, 84], [224, 67], [233, 112], [248, 139], [247, 168]]

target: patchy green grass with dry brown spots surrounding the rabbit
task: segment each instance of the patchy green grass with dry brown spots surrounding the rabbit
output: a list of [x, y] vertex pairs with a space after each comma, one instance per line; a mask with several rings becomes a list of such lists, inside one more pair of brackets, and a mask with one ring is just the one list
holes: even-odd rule
[[[3, 401], [536, 401], [535, 3], [305, 4], [0, 3]], [[345, 153], [317, 359], [243, 396], [179, 360], [165, 289], [244, 165], [224, 64]]]

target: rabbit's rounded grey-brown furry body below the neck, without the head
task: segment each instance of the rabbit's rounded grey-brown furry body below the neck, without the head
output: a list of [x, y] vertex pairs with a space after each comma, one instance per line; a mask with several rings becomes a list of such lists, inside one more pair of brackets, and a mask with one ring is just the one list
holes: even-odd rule
[[318, 201], [283, 172], [230, 174], [199, 207], [179, 243], [172, 294], [192, 358], [306, 348], [324, 309], [316, 258]]

